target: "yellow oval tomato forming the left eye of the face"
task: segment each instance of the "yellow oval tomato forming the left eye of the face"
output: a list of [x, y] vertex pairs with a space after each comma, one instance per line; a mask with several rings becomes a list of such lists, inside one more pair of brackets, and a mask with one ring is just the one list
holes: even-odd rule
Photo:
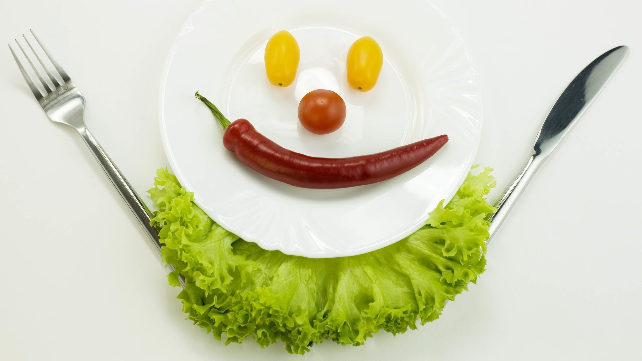
[[265, 74], [277, 87], [287, 87], [297, 76], [299, 44], [292, 34], [281, 30], [272, 35], [265, 47]]

